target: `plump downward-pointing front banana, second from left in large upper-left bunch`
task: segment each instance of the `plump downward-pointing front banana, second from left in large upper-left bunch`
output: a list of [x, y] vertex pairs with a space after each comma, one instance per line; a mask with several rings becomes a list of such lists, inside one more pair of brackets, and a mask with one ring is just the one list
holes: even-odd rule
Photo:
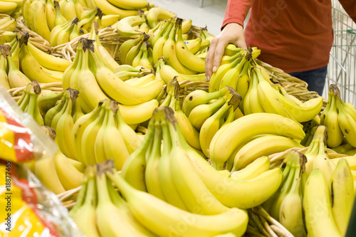
[[[85, 41], [85, 38], [82, 38], [82, 40]], [[100, 102], [100, 100], [109, 100], [109, 98], [100, 88], [97, 80], [97, 75], [94, 75], [89, 68], [90, 64], [93, 65], [93, 62], [90, 60], [94, 60], [93, 58], [90, 58], [90, 56], [95, 54], [96, 52], [94, 52], [93, 54], [89, 54], [89, 48], [83, 49], [84, 53], [82, 59], [82, 68], [80, 70], [80, 73], [76, 75], [76, 79], [78, 80], [80, 102], [83, 102], [85, 104], [82, 109], [84, 110], [84, 112], [90, 112], [96, 107], [96, 105], [98, 105], [98, 102]]]

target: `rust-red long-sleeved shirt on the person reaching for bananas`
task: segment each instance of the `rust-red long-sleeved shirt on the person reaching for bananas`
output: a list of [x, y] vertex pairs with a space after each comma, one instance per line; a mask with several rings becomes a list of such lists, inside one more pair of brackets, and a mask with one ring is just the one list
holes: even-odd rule
[[[356, 1], [340, 0], [356, 22]], [[322, 68], [333, 44], [330, 0], [229, 0], [223, 27], [244, 20], [246, 44], [261, 49], [258, 59], [286, 73]]]

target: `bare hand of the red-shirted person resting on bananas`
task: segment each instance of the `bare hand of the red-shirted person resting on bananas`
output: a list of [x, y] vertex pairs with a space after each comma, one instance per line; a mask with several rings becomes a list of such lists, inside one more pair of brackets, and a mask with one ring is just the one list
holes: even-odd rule
[[244, 27], [239, 23], [228, 23], [219, 35], [211, 40], [209, 51], [205, 59], [206, 81], [210, 80], [211, 74], [219, 67], [225, 47], [228, 43], [234, 43], [234, 45], [239, 48], [247, 48], [244, 37]]

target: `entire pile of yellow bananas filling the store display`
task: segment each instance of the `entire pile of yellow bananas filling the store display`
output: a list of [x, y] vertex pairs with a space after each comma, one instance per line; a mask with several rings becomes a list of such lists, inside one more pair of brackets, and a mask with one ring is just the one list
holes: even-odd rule
[[[356, 110], [336, 85], [323, 110], [258, 65], [258, 48], [232, 44], [206, 82], [213, 37], [146, 0], [0, 1], [0, 12], [0, 83], [59, 148], [26, 166], [56, 194], [81, 186], [65, 204], [87, 236], [345, 235]], [[285, 229], [262, 231], [254, 208]]]

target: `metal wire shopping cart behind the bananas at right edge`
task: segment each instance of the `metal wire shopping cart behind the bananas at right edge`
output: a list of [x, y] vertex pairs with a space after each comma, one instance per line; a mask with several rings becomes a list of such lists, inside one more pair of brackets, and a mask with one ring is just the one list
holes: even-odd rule
[[323, 97], [328, 98], [330, 84], [336, 84], [342, 100], [356, 105], [356, 23], [339, 1], [332, 0], [332, 6], [334, 42]]

